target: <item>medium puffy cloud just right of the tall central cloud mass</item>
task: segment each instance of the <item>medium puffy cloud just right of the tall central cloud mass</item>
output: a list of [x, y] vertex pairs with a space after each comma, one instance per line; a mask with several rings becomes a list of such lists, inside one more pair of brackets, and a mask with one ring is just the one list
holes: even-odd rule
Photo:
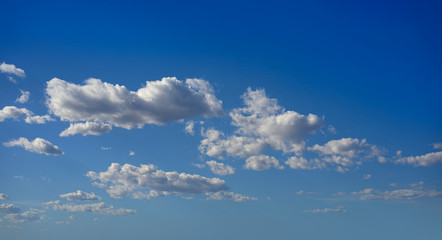
[[341, 172], [347, 171], [345, 167], [353, 165], [354, 158], [372, 158], [383, 153], [375, 145], [368, 144], [366, 139], [342, 138], [331, 140], [325, 145], [315, 144], [308, 148], [322, 156], [321, 160], [328, 164], [339, 165], [337, 169]]

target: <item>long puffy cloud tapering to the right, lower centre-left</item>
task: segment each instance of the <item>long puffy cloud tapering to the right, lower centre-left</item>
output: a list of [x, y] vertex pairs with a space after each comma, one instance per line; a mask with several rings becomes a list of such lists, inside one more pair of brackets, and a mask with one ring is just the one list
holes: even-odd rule
[[111, 197], [121, 198], [129, 194], [142, 193], [138, 190], [150, 190], [160, 195], [201, 194], [224, 191], [227, 185], [219, 178], [206, 178], [187, 173], [165, 172], [154, 165], [141, 164], [140, 167], [112, 163], [105, 172], [90, 171], [87, 176], [95, 186], [106, 189]]

